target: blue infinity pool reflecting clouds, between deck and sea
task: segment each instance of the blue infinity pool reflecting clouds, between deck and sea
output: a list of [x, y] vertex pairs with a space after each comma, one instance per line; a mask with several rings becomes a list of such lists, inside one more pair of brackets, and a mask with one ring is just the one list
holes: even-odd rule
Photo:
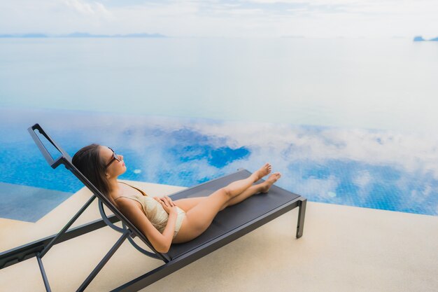
[[[438, 214], [438, 143], [426, 135], [86, 111], [0, 113], [0, 182], [8, 183], [0, 195], [9, 200], [0, 208], [3, 218], [36, 221], [82, 187], [66, 169], [47, 165], [27, 133], [34, 123], [70, 155], [91, 143], [111, 146], [125, 155], [122, 179], [193, 186], [271, 162], [283, 174], [278, 186], [314, 202]], [[17, 209], [23, 198], [13, 200], [11, 186], [30, 187], [25, 200], [32, 208]], [[45, 195], [35, 215], [30, 210], [38, 209], [41, 189], [59, 195]]]

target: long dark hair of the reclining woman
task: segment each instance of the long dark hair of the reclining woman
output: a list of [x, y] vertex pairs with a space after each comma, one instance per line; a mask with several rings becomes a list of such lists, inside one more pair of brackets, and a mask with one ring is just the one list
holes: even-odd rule
[[113, 198], [109, 195], [109, 183], [105, 176], [106, 163], [100, 156], [99, 146], [99, 144], [91, 144], [80, 148], [80, 150], [73, 155], [71, 162], [114, 204]]

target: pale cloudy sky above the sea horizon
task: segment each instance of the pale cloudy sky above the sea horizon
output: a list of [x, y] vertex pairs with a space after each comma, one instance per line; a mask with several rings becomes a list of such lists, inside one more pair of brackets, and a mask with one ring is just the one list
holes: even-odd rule
[[438, 36], [438, 0], [0, 0], [0, 34]]

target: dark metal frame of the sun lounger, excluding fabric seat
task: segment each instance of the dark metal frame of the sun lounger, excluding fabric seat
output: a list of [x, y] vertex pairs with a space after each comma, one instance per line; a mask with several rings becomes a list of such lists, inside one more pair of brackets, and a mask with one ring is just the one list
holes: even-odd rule
[[[230, 230], [229, 232], [225, 233], [224, 235], [221, 235], [220, 237], [210, 240], [209, 242], [205, 242], [201, 246], [198, 246], [196, 249], [183, 253], [181, 256], [170, 258], [167, 253], [159, 253], [154, 249], [153, 245], [150, 244], [147, 237], [144, 236], [132, 223], [130, 223], [130, 221], [128, 221], [127, 218], [125, 218], [125, 216], [123, 216], [123, 214], [121, 214], [120, 211], [118, 211], [118, 209], [116, 209], [113, 206], [113, 204], [111, 204], [111, 202], [109, 202], [108, 199], [106, 199], [106, 197], [99, 190], [97, 190], [97, 188], [92, 183], [90, 183], [90, 181], [88, 181], [85, 178], [85, 176], [83, 176], [83, 174], [81, 174], [78, 171], [78, 169], [76, 169], [76, 167], [72, 165], [70, 156], [60, 146], [58, 146], [56, 142], [48, 136], [47, 133], [45, 133], [45, 131], [40, 125], [35, 124], [32, 127], [29, 127], [28, 130], [29, 133], [31, 134], [31, 137], [34, 139], [36, 145], [38, 146], [41, 153], [43, 154], [45, 160], [47, 160], [47, 162], [52, 168], [55, 169], [59, 165], [64, 165], [66, 169], [69, 169], [93, 193], [90, 200], [88, 200], [84, 204], [84, 206], [78, 211], [78, 213], [75, 216], [73, 216], [73, 218], [71, 218], [69, 223], [67, 223], [64, 226], [64, 228], [62, 228], [62, 230], [57, 233], [57, 235], [45, 237], [43, 239], [37, 240], [36, 242], [31, 242], [29, 244], [19, 246], [15, 249], [11, 249], [10, 251], [0, 253], [0, 269], [3, 267], [7, 267], [8, 265], [19, 263], [22, 260], [26, 260], [28, 258], [32, 258], [35, 256], [38, 260], [38, 266], [41, 270], [41, 276], [43, 277], [43, 281], [47, 291], [51, 291], [51, 290], [50, 290], [48, 277], [45, 274], [45, 270], [42, 262], [42, 258], [45, 255], [45, 253], [47, 253], [54, 244], [58, 244], [60, 242], [64, 242], [66, 240], [77, 237], [79, 235], [83, 235], [87, 232], [97, 230], [98, 228], [102, 228], [106, 225], [108, 225], [109, 227], [113, 228], [118, 232], [121, 232], [122, 235], [120, 236], [118, 241], [113, 245], [110, 251], [106, 253], [104, 258], [102, 258], [99, 264], [90, 273], [87, 279], [83, 281], [83, 284], [80, 285], [77, 291], [84, 291], [85, 288], [87, 288], [87, 286], [90, 284], [92, 279], [96, 277], [97, 273], [101, 270], [102, 267], [104, 267], [104, 265], [108, 262], [111, 256], [113, 256], [115, 251], [117, 251], [117, 249], [121, 246], [121, 244], [125, 242], [125, 239], [128, 239], [129, 242], [137, 250], [139, 250], [141, 253], [145, 254], [146, 256], [163, 260], [164, 265], [161, 265], [160, 267], [157, 267], [155, 270], [147, 272], [146, 274], [143, 274], [140, 277], [137, 277], [136, 279], [133, 279], [132, 281], [129, 281], [126, 284], [123, 284], [122, 286], [113, 289], [113, 291], [139, 291], [141, 288], [153, 284], [155, 281], [158, 281], [159, 279], [166, 277], [167, 275], [175, 272], [176, 270], [181, 269], [181, 267], [184, 267], [185, 265], [188, 265], [213, 251], [216, 251], [220, 247], [228, 244], [229, 242], [232, 242], [235, 239], [238, 239], [239, 237], [246, 235], [248, 232], [253, 231], [256, 228], [259, 228], [265, 223], [268, 223], [274, 218], [277, 218], [278, 216], [281, 216], [282, 214], [285, 214], [286, 212], [295, 209], [296, 207], [299, 207], [296, 237], [297, 238], [302, 237], [304, 230], [304, 217], [305, 217], [307, 200], [305, 197], [297, 195], [297, 197], [294, 200], [291, 200], [286, 204], [282, 204], [281, 206], [278, 206], [276, 209], [269, 211], [267, 214], [263, 214], [262, 216], [254, 218], [252, 221], [239, 226], [239, 228]], [[38, 132], [43, 137], [45, 137], [45, 139], [47, 139], [47, 141], [50, 144], [52, 144], [52, 146], [54, 146], [57, 149], [57, 151], [59, 151], [59, 153], [61, 153], [61, 156], [59, 156], [57, 159], [52, 158], [49, 151], [47, 150], [47, 148], [45, 148], [41, 139], [36, 134], [36, 130], [38, 130]], [[247, 171], [243, 169], [240, 170], [239, 172], [247, 172]], [[201, 185], [195, 186], [194, 188], [205, 185], [207, 183], [211, 183], [213, 181], [207, 181], [206, 183], [202, 183]], [[178, 193], [187, 192], [187, 191], [188, 190], [183, 190]], [[175, 193], [174, 195], [177, 195], [178, 193]], [[77, 228], [71, 228], [71, 230], [69, 230], [71, 225], [76, 221], [76, 219], [80, 216], [80, 214], [82, 214], [83, 211], [85, 211], [85, 209], [87, 209], [87, 207], [90, 206], [90, 204], [96, 197], [99, 199], [99, 211], [101, 213], [102, 219], [84, 225], [80, 225]], [[107, 216], [104, 211], [104, 205], [111, 212], [113, 212], [114, 215]], [[114, 223], [118, 221], [122, 222], [122, 228], [118, 227], [117, 225], [114, 225]], [[152, 252], [147, 251], [146, 249], [143, 249], [138, 244], [136, 244], [134, 240], [132, 240], [132, 238], [134, 237], [139, 237], [141, 241], [144, 244], [146, 244], [146, 246], [148, 246], [148, 248]]]

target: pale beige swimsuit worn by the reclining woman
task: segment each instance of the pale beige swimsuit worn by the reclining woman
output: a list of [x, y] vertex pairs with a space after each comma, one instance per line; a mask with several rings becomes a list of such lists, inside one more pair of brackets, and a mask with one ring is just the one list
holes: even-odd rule
[[[120, 181], [120, 183], [124, 182]], [[125, 183], [125, 185], [139, 190], [142, 195], [136, 194], [120, 197], [127, 197], [128, 199], [139, 202], [141, 204], [141, 207], [143, 207], [143, 211], [145, 212], [146, 217], [148, 217], [150, 223], [152, 223], [152, 225], [154, 225], [154, 227], [157, 228], [160, 233], [162, 233], [164, 231], [164, 228], [166, 228], [167, 219], [169, 218], [169, 214], [167, 214], [167, 211], [164, 210], [159, 202], [148, 196], [145, 192], [143, 192], [143, 190], [136, 188], [135, 186], [131, 186], [128, 183]], [[117, 197], [114, 200], [118, 200], [120, 199], [120, 197]], [[178, 209], [178, 216], [176, 217], [174, 238], [178, 234], [178, 231], [180, 230], [181, 224], [183, 223], [185, 217], [185, 211], [178, 206], [176, 208]]]

